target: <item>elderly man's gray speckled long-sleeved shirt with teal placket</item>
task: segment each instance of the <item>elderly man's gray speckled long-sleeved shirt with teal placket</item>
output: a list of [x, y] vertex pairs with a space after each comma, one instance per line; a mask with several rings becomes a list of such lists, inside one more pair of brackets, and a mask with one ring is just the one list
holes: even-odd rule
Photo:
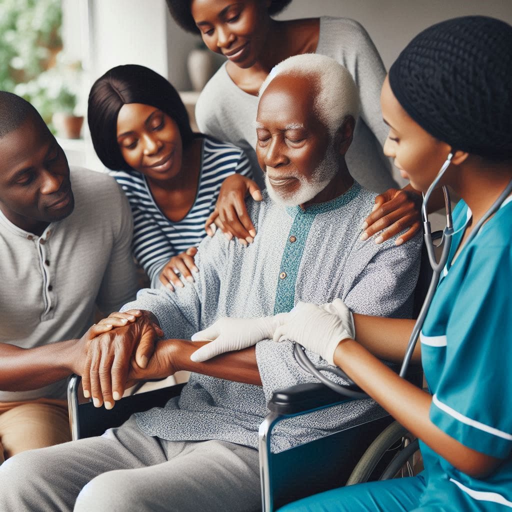
[[[141, 290], [123, 310], [151, 310], [168, 338], [190, 336], [220, 316], [260, 317], [289, 311], [298, 301], [322, 304], [336, 297], [354, 311], [407, 317], [419, 265], [421, 240], [402, 246], [361, 242], [361, 225], [375, 194], [354, 183], [333, 201], [305, 211], [286, 208], [264, 194], [248, 202], [258, 234], [243, 247], [222, 234], [204, 239], [193, 285], [175, 293]], [[276, 390], [313, 382], [295, 362], [292, 343], [264, 340], [256, 355], [263, 388], [193, 373], [179, 398], [137, 415], [141, 430], [170, 440], [223, 439], [258, 446], [258, 428]], [[309, 353], [316, 364], [326, 362]], [[275, 452], [383, 415], [372, 400], [348, 401], [281, 422], [273, 431]]]

